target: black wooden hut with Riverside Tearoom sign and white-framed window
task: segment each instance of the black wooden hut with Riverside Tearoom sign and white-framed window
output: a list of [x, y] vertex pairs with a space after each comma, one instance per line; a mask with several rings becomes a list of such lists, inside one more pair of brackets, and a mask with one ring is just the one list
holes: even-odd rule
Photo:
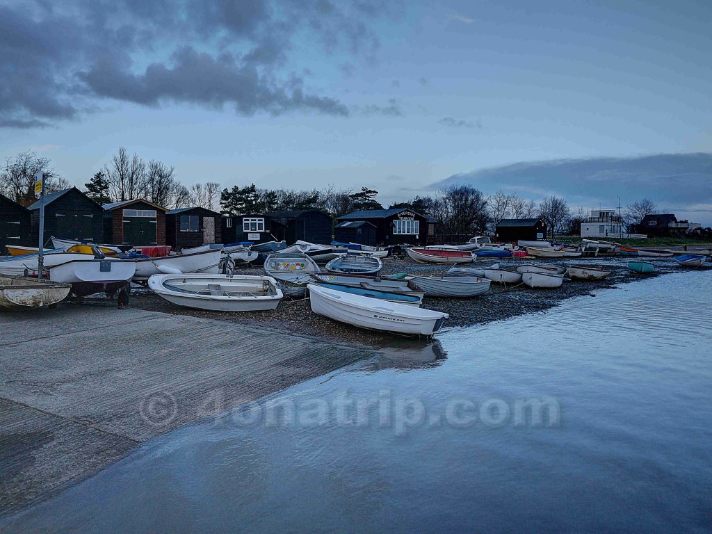
[[367, 209], [354, 211], [336, 219], [366, 221], [376, 227], [376, 242], [384, 245], [426, 245], [435, 238], [435, 221], [408, 208]]

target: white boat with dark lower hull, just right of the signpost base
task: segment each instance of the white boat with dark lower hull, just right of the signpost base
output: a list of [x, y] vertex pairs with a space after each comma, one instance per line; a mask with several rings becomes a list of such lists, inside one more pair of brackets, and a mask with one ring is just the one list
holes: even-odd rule
[[89, 261], [68, 261], [49, 269], [51, 281], [69, 283], [78, 297], [100, 291], [115, 291], [130, 283], [136, 264], [117, 259], [93, 258]]

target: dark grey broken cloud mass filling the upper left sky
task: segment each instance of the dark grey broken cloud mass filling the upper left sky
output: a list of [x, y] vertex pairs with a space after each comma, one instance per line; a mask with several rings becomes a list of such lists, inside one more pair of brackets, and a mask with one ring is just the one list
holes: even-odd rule
[[[166, 102], [251, 115], [348, 115], [305, 84], [293, 43], [369, 61], [372, 19], [401, 4], [349, 0], [13, 1], [0, 6], [0, 127], [80, 118], [103, 103]], [[300, 74], [297, 74], [300, 73]], [[393, 105], [385, 115], [399, 115]]]

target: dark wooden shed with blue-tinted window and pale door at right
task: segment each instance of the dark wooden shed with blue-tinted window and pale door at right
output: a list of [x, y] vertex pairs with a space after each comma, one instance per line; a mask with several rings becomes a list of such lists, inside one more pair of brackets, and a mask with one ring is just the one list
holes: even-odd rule
[[206, 243], [222, 243], [222, 215], [201, 208], [166, 211], [166, 244], [174, 251]]

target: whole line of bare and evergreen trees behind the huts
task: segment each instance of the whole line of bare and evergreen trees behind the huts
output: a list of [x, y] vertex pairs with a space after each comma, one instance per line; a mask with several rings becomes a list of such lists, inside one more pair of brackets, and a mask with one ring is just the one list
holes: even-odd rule
[[[34, 177], [43, 172], [45, 190], [52, 193], [69, 187], [68, 180], [51, 166], [46, 157], [21, 152], [6, 159], [0, 169], [0, 193], [28, 206], [35, 200]], [[142, 159], [120, 147], [111, 161], [95, 172], [84, 192], [99, 204], [143, 198], [169, 209], [202, 206], [223, 214], [264, 214], [271, 211], [319, 209], [334, 218], [357, 210], [383, 209], [375, 189], [262, 189], [255, 184], [220, 188], [217, 182], [186, 187], [176, 177], [175, 168], [164, 162]], [[452, 185], [431, 196], [414, 197], [390, 204], [389, 208], [408, 208], [433, 217], [441, 234], [476, 234], [493, 231], [503, 219], [543, 219], [553, 235], [579, 234], [580, 224], [589, 216], [583, 206], [572, 208], [561, 197], [550, 196], [537, 202], [517, 194], [498, 191], [486, 195], [467, 185]], [[635, 201], [622, 211], [624, 226], [632, 228], [647, 214], [657, 212], [649, 199]]]

